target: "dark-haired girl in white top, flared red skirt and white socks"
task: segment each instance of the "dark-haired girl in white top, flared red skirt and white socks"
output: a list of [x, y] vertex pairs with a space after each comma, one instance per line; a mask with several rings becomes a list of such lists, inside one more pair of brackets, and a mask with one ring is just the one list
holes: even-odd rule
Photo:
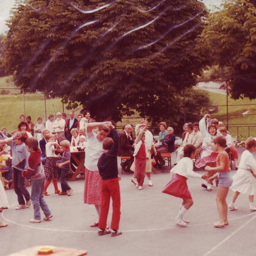
[[190, 223], [190, 221], [183, 219], [183, 215], [194, 204], [190, 191], [188, 190], [188, 176], [207, 179], [207, 174], [200, 175], [193, 171], [192, 159], [194, 158], [196, 151], [196, 148], [193, 145], [188, 144], [183, 151], [184, 157], [171, 169], [171, 172], [174, 173], [175, 176], [165, 186], [165, 189], [162, 192], [183, 199], [183, 202], [180, 205], [179, 214], [175, 218], [175, 222], [180, 227], [187, 227], [187, 224]]

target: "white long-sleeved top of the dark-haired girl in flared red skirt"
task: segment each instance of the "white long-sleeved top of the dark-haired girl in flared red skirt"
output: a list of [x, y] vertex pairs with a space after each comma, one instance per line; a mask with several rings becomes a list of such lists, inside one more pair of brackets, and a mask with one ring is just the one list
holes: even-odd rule
[[176, 166], [171, 169], [172, 173], [188, 178], [194, 177], [201, 179], [202, 175], [193, 171], [193, 161], [189, 157], [183, 157], [179, 160]]

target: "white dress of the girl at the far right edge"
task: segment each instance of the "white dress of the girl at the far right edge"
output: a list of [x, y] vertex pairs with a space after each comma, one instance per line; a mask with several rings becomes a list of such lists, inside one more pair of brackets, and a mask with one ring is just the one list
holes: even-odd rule
[[230, 187], [233, 191], [238, 191], [242, 194], [254, 195], [253, 176], [249, 171], [256, 171], [256, 160], [249, 151], [244, 151], [241, 155], [240, 164], [236, 174], [233, 176], [233, 183]]

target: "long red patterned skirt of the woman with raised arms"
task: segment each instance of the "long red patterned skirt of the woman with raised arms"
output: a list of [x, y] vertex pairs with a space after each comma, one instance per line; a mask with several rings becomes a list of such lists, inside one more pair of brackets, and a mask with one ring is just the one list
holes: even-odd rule
[[84, 203], [101, 205], [102, 179], [99, 171], [90, 171], [85, 168]]

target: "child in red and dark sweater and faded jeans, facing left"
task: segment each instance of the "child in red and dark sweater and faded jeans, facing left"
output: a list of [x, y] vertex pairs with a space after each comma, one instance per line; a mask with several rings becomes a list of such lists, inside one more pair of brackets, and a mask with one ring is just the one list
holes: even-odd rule
[[30, 152], [29, 169], [23, 171], [22, 176], [31, 177], [31, 201], [34, 206], [34, 219], [30, 219], [29, 222], [41, 222], [40, 207], [45, 215], [44, 221], [48, 221], [52, 218], [52, 215], [43, 198], [45, 177], [43, 165], [41, 163], [41, 151], [38, 148], [38, 141], [36, 138], [27, 138], [25, 144], [27, 151]]

